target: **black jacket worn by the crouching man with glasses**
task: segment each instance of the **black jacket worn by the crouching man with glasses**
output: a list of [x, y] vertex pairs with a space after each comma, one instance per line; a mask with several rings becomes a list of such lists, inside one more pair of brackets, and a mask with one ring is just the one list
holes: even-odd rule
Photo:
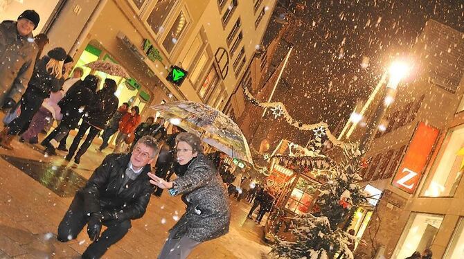
[[118, 193], [131, 154], [109, 154], [93, 172], [87, 184], [78, 191], [84, 198], [86, 213], [97, 215], [110, 211], [116, 217], [109, 220], [135, 220], [145, 214], [154, 186], [147, 173], [150, 165], [141, 174], [127, 183], [127, 188]]

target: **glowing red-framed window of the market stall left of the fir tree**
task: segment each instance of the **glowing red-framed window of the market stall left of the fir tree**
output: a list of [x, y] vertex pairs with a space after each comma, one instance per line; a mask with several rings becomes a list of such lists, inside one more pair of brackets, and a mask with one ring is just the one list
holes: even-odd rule
[[285, 208], [296, 214], [308, 213], [316, 193], [316, 188], [312, 184], [312, 181], [300, 177], [292, 190], [292, 195], [285, 204]]

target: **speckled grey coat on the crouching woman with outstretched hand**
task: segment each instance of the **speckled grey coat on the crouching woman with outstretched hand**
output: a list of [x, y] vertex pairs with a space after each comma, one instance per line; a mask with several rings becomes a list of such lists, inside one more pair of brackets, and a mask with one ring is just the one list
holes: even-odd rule
[[187, 204], [170, 232], [175, 238], [186, 236], [197, 242], [219, 238], [229, 232], [231, 211], [222, 179], [204, 154], [194, 158], [184, 176], [174, 180], [177, 193]]

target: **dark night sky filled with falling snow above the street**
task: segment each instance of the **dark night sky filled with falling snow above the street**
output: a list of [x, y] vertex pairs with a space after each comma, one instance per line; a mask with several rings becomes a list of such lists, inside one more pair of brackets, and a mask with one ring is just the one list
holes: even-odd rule
[[289, 16], [301, 26], [283, 73], [287, 85], [280, 92], [287, 94], [273, 101], [282, 101], [297, 120], [322, 120], [332, 130], [346, 122], [356, 100], [367, 98], [391, 58], [408, 53], [428, 19], [464, 32], [464, 0], [278, 0], [265, 43], [281, 26], [276, 19]]

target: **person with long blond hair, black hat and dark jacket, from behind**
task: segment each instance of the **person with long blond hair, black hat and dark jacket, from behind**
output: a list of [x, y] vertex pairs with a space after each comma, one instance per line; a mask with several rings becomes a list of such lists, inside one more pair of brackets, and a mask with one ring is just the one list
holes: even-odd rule
[[51, 92], [60, 91], [64, 82], [62, 69], [65, 59], [66, 51], [63, 48], [53, 48], [35, 64], [33, 77], [21, 96], [21, 113], [0, 133], [0, 145], [3, 148], [12, 150], [12, 140], [29, 125], [45, 98]]

